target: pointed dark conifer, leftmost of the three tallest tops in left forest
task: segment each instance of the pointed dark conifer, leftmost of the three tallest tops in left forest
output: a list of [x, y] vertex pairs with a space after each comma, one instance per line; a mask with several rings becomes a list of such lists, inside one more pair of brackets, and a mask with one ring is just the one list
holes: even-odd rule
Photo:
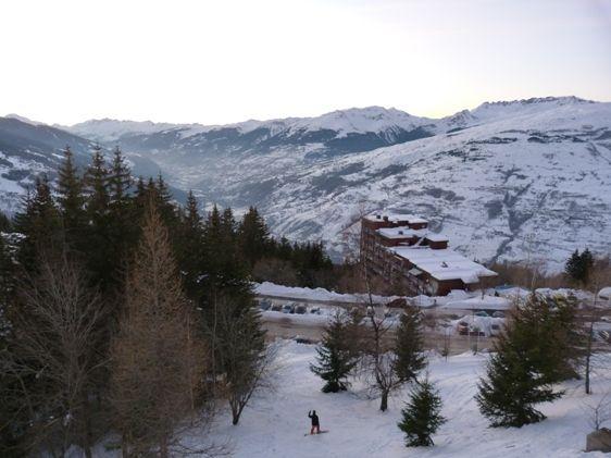
[[80, 248], [86, 223], [83, 181], [74, 164], [70, 147], [64, 149], [64, 161], [59, 170], [58, 202], [62, 214], [66, 242], [73, 248]]

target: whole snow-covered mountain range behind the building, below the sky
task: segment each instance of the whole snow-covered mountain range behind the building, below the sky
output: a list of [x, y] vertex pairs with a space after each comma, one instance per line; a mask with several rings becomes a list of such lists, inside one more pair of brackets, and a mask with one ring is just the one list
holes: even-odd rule
[[611, 252], [611, 103], [548, 97], [440, 120], [370, 107], [224, 126], [64, 128], [120, 145], [137, 173], [159, 168], [207, 202], [257, 205], [277, 234], [322, 238], [336, 253], [360, 213], [384, 208], [428, 218], [482, 261], [558, 269], [575, 248]]

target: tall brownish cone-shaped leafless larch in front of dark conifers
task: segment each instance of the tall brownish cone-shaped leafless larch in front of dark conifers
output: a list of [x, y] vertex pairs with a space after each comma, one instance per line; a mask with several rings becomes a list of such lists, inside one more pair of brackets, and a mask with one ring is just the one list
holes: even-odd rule
[[207, 351], [195, 329], [167, 231], [149, 206], [111, 350], [111, 401], [124, 455], [184, 451], [182, 434], [209, 423], [210, 410], [200, 406]]

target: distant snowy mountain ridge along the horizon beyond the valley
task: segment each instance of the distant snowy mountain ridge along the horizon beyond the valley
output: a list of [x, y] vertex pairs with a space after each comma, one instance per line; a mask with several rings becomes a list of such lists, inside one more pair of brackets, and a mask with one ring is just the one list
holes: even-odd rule
[[250, 120], [222, 126], [91, 120], [62, 128], [101, 143], [121, 143], [142, 152], [170, 148], [201, 154], [311, 144], [322, 144], [328, 152], [366, 151], [432, 136], [438, 127], [426, 117], [369, 107], [338, 110], [319, 117]]

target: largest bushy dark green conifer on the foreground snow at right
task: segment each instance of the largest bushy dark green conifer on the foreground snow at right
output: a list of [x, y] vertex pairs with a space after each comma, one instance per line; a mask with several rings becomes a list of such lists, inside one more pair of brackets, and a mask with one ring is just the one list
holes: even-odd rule
[[550, 301], [531, 295], [495, 343], [475, 399], [492, 426], [522, 426], [545, 419], [535, 409], [562, 396], [553, 384], [564, 377], [563, 330], [558, 331]]

